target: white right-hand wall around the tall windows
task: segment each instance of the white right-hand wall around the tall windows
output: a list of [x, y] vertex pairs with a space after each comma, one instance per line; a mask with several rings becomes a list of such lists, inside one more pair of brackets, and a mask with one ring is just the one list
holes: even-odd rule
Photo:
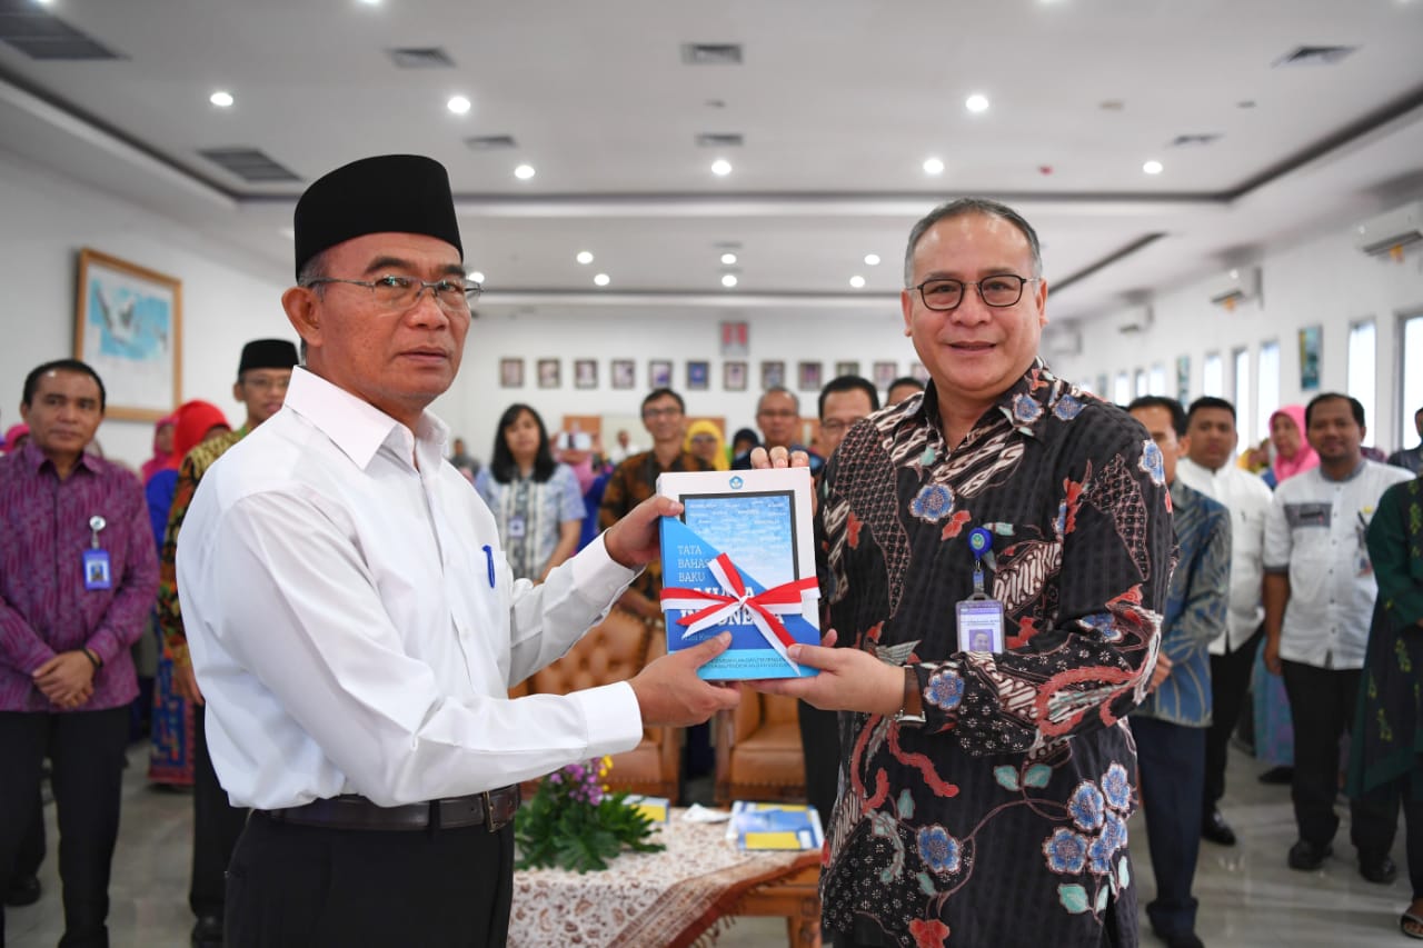
[[[1349, 326], [1373, 319], [1377, 330], [1377, 391], [1375, 417], [1368, 418], [1369, 440], [1386, 451], [1399, 447], [1400, 322], [1403, 316], [1423, 312], [1423, 255], [1410, 251], [1400, 262], [1365, 256], [1353, 246], [1349, 222], [1342, 222], [1326, 233], [1266, 252], [1259, 266], [1262, 292], [1258, 300], [1244, 302], [1228, 312], [1210, 302], [1208, 282], [1165, 292], [1151, 302], [1154, 320], [1148, 329], [1133, 335], [1118, 332], [1121, 323], [1140, 315], [1140, 306], [1109, 313], [1081, 326], [1080, 354], [1059, 354], [1053, 357], [1053, 366], [1064, 377], [1094, 387], [1097, 376], [1106, 374], [1109, 389], [1099, 394], [1111, 397], [1110, 383], [1118, 372], [1134, 374], [1137, 369], [1150, 370], [1151, 364], [1164, 363], [1167, 394], [1174, 396], [1175, 359], [1184, 354], [1191, 360], [1194, 399], [1201, 394], [1205, 354], [1220, 353], [1225, 360], [1225, 397], [1232, 399], [1231, 352], [1241, 347], [1249, 350], [1255, 386], [1261, 343], [1275, 340], [1279, 343], [1278, 404], [1303, 404], [1319, 391], [1346, 390]], [[1302, 391], [1298, 330], [1313, 325], [1323, 327], [1321, 387], [1318, 391]], [[1414, 366], [1413, 372], [1419, 367]], [[1258, 393], [1252, 393], [1251, 404], [1259, 404]], [[1409, 417], [1416, 407], [1406, 409]], [[1257, 441], [1268, 434], [1251, 433]], [[1242, 427], [1242, 441], [1245, 434]]]

